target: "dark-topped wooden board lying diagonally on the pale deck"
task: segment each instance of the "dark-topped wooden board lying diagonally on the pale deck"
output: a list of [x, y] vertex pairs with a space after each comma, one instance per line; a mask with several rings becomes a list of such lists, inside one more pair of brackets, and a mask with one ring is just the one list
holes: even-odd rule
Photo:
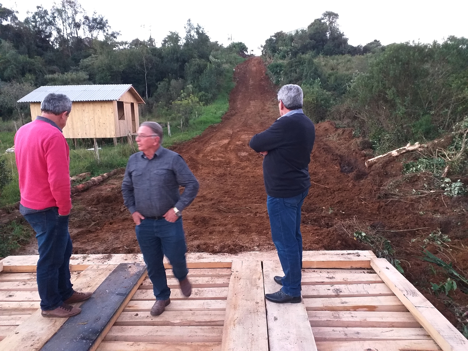
[[82, 312], [68, 318], [41, 351], [95, 350], [145, 277], [146, 265], [120, 263], [83, 302]]

